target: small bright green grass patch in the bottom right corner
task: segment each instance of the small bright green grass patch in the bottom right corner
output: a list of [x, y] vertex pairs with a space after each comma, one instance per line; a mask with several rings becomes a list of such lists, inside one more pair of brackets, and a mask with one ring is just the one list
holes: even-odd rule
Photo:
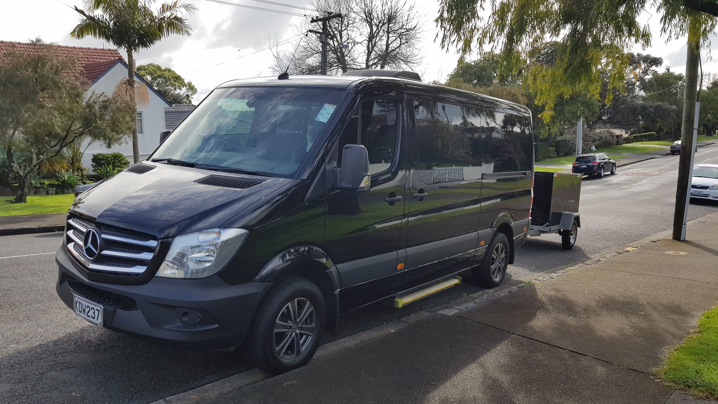
[[703, 313], [698, 332], [673, 349], [658, 376], [701, 398], [718, 398], [718, 306]]

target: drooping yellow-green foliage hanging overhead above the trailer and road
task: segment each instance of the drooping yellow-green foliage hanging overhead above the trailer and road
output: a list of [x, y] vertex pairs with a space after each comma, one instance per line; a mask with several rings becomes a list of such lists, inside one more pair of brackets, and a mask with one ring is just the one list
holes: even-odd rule
[[[544, 107], [541, 117], [547, 123], [562, 97], [585, 93], [601, 98], [605, 87], [603, 101], [610, 104], [630, 74], [626, 50], [651, 44], [650, 30], [638, 19], [648, 8], [645, 0], [440, 0], [439, 4], [436, 22], [442, 30], [442, 46], [457, 47], [467, 55], [493, 45], [500, 75], [526, 66], [523, 83], [536, 93], [534, 102]], [[691, 43], [706, 42], [716, 26], [715, 17], [686, 9], [683, 1], [657, 0], [656, 8], [668, 38], [689, 32]], [[551, 41], [555, 57], [541, 63], [538, 56], [545, 54], [542, 48]], [[526, 63], [532, 59], [539, 63]]]

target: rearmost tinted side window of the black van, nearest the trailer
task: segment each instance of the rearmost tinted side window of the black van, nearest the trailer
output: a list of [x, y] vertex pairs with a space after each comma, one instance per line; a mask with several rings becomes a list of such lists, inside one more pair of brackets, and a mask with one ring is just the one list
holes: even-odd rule
[[528, 118], [482, 111], [481, 150], [484, 173], [533, 169], [533, 135]]

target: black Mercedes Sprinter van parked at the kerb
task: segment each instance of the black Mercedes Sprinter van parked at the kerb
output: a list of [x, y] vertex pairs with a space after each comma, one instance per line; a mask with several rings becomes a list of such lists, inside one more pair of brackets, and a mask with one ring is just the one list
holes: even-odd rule
[[108, 329], [306, 364], [337, 318], [501, 283], [527, 237], [523, 106], [416, 73], [230, 81], [145, 161], [80, 193], [57, 294]]

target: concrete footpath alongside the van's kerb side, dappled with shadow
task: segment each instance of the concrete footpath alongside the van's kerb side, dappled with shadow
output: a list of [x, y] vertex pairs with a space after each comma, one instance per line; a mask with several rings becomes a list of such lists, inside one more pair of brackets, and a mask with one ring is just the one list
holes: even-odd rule
[[331, 342], [284, 375], [251, 370], [158, 403], [707, 403], [653, 377], [718, 304], [718, 214], [688, 235]]

